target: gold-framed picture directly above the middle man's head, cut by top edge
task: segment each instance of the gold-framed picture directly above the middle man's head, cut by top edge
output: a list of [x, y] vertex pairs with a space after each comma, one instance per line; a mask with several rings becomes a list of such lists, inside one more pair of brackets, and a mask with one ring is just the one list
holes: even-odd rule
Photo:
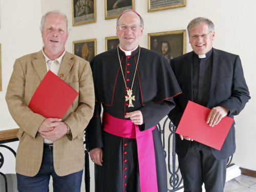
[[126, 9], [134, 10], [134, 0], [105, 0], [105, 19], [117, 18]]

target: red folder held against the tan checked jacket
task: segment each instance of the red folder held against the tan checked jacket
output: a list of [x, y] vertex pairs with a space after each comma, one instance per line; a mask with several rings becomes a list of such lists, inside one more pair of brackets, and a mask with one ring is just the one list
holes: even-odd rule
[[76, 90], [49, 70], [34, 92], [29, 108], [46, 118], [62, 118], [77, 95]]

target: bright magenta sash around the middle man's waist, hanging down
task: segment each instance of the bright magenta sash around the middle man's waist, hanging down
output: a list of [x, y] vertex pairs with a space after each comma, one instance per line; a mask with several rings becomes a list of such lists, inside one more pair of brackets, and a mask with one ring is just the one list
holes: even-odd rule
[[158, 191], [152, 133], [154, 129], [156, 129], [156, 126], [140, 131], [139, 127], [134, 125], [131, 120], [116, 118], [106, 112], [103, 115], [103, 130], [105, 132], [124, 138], [136, 138], [141, 192]]

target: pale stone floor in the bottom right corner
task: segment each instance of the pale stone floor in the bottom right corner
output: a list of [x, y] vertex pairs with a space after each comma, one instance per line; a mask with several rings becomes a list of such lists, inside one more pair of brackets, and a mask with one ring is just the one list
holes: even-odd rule
[[241, 175], [225, 184], [225, 192], [256, 192], [256, 178]]

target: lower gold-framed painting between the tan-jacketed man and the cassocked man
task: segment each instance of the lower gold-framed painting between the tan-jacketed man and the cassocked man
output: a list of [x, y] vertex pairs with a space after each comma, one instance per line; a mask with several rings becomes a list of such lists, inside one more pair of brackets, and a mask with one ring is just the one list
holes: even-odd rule
[[96, 55], [96, 39], [73, 41], [73, 53], [91, 62]]

